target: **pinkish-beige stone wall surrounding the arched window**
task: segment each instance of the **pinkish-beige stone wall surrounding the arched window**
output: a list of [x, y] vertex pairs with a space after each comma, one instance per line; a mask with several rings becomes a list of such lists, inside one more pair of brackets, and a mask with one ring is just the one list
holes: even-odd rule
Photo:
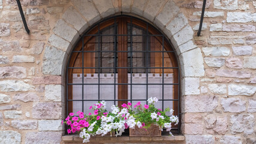
[[91, 25], [135, 14], [171, 40], [181, 68], [184, 143], [255, 143], [256, 1], [0, 0], [0, 142], [60, 143], [65, 68]]

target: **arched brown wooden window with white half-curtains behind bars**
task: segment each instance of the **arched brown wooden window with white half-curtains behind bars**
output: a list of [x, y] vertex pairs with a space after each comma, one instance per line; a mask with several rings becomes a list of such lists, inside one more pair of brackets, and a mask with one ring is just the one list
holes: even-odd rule
[[105, 100], [107, 107], [159, 98], [157, 108], [179, 113], [179, 69], [168, 40], [152, 25], [115, 16], [93, 26], [73, 49], [67, 67], [67, 113]]

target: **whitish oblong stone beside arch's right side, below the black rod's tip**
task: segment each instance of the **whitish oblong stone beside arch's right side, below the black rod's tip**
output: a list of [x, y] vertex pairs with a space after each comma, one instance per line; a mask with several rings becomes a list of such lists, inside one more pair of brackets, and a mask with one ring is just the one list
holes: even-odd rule
[[228, 47], [203, 47], [204, 55], [206, 56], [228, 56], [230, 49]]

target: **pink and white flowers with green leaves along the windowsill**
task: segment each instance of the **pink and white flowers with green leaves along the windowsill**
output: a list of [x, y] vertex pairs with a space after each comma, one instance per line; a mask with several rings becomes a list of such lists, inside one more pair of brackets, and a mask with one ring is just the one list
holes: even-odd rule
[[[84, 139], [83, 142], [89, 142], [91, 136], [101, 134], [105, 136], [107, 133], [115, 132], [115, 136], [121, 136], [126, 128], [139, 128], [150, 127], [151, 124], [158, 125], [160, 130], [166, 128], [166, 131], [171, 130], [171, 124], [178, 124], [178, 117], [172, 115], [172, 109], [166, 108], [164, 111], [156, 109], [154, 106], [158, 99], [156, 97], [148, 99], [148, 105], [142, 105], [141, 102], [132, 107], [131, 103], [122, 104], [120, 109], [117, 106], [112, 106], [112, 112], [107, 112], [106, 102], [100, 101], [99, 103], [90, 106], [94, 113], [85, 115], [83, 112], [77, 112], [78, 116], [74, 113], [69, 113], [64, 123], [69, 125], [67, 133], [76, 133]], [[167, 116], [166, 113], [171, 113]], [[169, 134], [172, 136], [171, 132]]]

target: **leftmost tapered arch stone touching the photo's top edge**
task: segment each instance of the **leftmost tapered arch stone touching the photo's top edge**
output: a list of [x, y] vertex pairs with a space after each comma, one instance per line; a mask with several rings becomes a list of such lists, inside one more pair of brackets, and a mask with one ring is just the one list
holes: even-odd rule
[[[90, 25], [100, 20], [100, 14], [94, 7], [93, 1], [84, 0], [72, 0], [71, 1], [78, 11], [88, 20]], [[86, 7], [86, 8], [85, 8]]]

